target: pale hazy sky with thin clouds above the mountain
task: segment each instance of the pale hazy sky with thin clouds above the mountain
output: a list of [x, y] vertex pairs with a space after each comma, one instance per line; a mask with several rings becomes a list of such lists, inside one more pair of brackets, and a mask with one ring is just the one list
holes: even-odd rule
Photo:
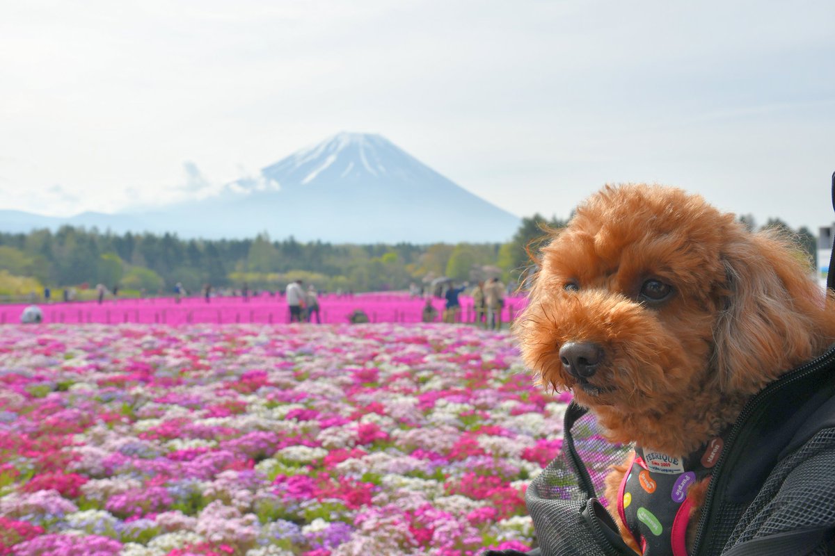
[[0, 0], [0, 208], [205, 195], [344, 130], [520, 216], [645, 181], [817, 231], [833, 28], [832, 0]]

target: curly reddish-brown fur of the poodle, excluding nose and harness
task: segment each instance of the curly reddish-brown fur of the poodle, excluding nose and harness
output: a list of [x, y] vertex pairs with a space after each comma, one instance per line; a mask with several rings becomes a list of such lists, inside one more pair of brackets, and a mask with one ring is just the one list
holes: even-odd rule
[[[615, 442], [685, 456], [835, 340], [835, 305], [799, 249], [681, 189], [606, 186], [551, 234], [514, 332], [541, 383], [572, 390]], [[668, 297], [647, 298], [647, 281]], [[602, 348], [582, 381], [559, 355], [578, 341]], [[611, 508], [625, 469], [607, 477]], [[696, 510], [705, 492], [691, 488]]]

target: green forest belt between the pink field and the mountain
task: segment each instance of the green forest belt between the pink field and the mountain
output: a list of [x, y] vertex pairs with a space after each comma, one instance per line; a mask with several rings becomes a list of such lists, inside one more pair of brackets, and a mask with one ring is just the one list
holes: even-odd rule
[[[740, 221], [755, 228], [751, 216]], [[446, 276], [474, 281], [486, 273], [505, 283], [519, 283], [529, 268], [529, 253], [543, 241], [543, 226], [564, 221], [539, 214], [523, 218], [508, 243], [434, 243], [414, 245], [352, 245], [273, 240], [266, 234], [251, 239], [183, 239], [165, 233], [101, 233], [63, 227], [31, 233], [0, 233], [0, 298], [12, 299], [53, 290], [77, 289], [83, 296], [99, 283], [118, 287], [122, 295], [170, 295], [180, 283], [188, 292], [205, 284], [212, 288], [283, 289], [301, 278], [326, 291], [399, 290]], [[815, 238], [807, 228], [795, 231], [814, 258]]]

